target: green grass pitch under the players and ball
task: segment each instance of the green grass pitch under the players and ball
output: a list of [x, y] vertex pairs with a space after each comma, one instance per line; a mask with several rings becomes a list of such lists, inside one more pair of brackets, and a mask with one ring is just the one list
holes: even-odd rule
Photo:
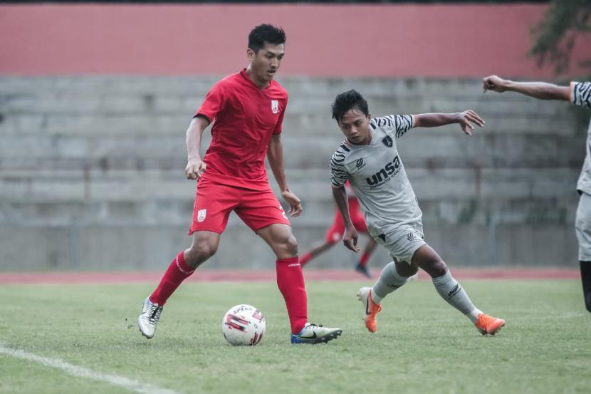
[[[591, 313], [579, 281], [462, 284], [480, 309], [506, 319], [497, 336], [481, 336], [429, 281], [389, 296], [375, 334], [355, 297], [362, 282], [309, 282], [310, 321], [343, 329], [316, 346], [289, 343], [274, 283], [184, 284], [150, 341], [136, 319], [152, 284], [2, 285], [0, 344], [174, 393], [590, 393]], [[221, 335], [222, 316], [241, 303], [267, 319], [253, 348]], [[5, 353], [0, 393], [130, 390]]]

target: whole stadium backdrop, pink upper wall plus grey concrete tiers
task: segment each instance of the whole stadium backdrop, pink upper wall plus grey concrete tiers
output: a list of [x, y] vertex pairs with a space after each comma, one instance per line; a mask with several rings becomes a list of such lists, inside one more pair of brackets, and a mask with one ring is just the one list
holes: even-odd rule
[[[184, 179], [184, 130], [211, 85], [244, 65], [245, 43], [236, 37], [246, 37], [256, 18], [281, 24], [290, 37], [279, 80], [290, 93], [288, 180], [305, 208], [293, 219], [300, 249], [322, 239], [333, 219], [327, 162], [342, 136], [330, 102], [357, 88], [375, 115], [471, 108], [486, 119], [471, 138], [448, 126], [399, 141], [427, 241], [446, 261], [576, 264], [575, 182], [588, 114], [483, 95], [477, 78], [550, 78], [550, 69], [523, 55], [543, 6], [252, 7], [0, 6], [0, 50], [10, 54], [0, 60], [0, 270], [161, 269], [187, 247], [194, 182]], [[463, 33], [455, 36], [458, 13], [466, 30], [456, 24]], [[353, 14], [364, 15], [362, 23], [341, 27]], [[486, 18], [474, 26], [483, 14], [519, 18], [493, 33]], [[215, 40], [206, 35], [220, 31], [209, 24], [214, 16], [227, 21]], [[323, 32], [326, 43], [339, 43], [311, 46]], [[455, 46], [441, 52], [463, 36], [464, 55]], [[589, 53], [588, 40], [577, 45]], [[310, 52], [317, 48], [323, 52]], [[438, 60], [422, 57], [436, 48]], [[488, 60], [478, 63], [478, 54]], [[387, 259], [380, 251], [372, 263]], [[313, 264], [354, 260], [335, 247]], [[271, 268], [273, 261], [232, 215], [207, 266]]]

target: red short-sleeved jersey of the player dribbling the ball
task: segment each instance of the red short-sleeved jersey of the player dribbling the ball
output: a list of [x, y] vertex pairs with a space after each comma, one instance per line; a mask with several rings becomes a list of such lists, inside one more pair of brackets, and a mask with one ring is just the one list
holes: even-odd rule
[[278, 82], [260, 89], [246, 69], [214, 85], [195, 115], [211, 127], [201, 179], [250, 190], [267, 190], [265, 156], [271, 135], [281, 133], [288, 95]]

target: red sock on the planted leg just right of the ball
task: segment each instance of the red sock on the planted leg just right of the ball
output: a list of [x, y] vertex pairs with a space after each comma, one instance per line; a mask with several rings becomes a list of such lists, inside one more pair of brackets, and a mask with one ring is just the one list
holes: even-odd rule
[[291, 332], [299, 333], [308, 321], [308, 298], [298, 257], [277, 260], [277, 286], [286, 300]]

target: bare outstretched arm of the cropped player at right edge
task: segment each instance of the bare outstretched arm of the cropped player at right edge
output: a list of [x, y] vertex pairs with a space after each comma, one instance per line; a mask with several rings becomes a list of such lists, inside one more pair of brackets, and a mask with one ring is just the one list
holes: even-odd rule
[[482, 78], [482, 88], [493, 92], [517, 92], [523, 95], [529, 95], [541, 100], [565, 100], [570, 101], [570, 87], [558, 86], [546, 82], [515, 82], [503, 79], [498, 76], [488, 76]]

